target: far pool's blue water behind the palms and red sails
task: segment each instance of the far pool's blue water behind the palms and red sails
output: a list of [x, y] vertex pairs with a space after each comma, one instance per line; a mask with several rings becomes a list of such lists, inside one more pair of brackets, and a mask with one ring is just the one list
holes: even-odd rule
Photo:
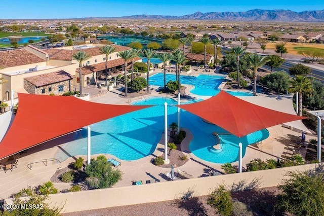
[[[176, 75], [167, 74], [167, 82], [170, 80], [175, 81]], [[211, 76], [211, 75], [199, 75], [198, 77], [193, 76], [181, 76], [181, 84], [193, 85], [195, 88], [190, 92], [196, 95], [203, 96], [214, 96], [219, 93], [218, 86], [224, 81], [222, 76]], [[150, 77], [150, 85], [153, 86], [163, 86], [164, 85], [164, 75], [159, 73]], [[234, 96], [252, 96], [253, 94], [249, 92], [238, 92], [238, 91], [227, 91]]]

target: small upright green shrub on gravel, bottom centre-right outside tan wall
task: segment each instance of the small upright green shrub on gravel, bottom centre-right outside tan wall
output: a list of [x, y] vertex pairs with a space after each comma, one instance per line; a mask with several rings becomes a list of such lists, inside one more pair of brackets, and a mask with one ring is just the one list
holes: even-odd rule
[[230, 192], [225, 188], [224, 185], [220, 185], [208, 196], [207, 204], [213, 208], [216, 208], [216, 213], [223, 216], [232, 215], [233, 201]]

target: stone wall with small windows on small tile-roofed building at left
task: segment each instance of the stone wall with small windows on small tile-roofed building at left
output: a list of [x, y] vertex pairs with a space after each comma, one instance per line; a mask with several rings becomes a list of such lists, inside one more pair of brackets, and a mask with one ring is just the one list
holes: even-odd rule
[[[24, 88], [29, 94], [62, 95], [63, 93], [72, 90], [71, 81], [72, 80], [67, 80], [67, 81], [63, 81], [63, 82], [36, 88], [36, 86], [34, 86], [32, 83], [30, 83], [24, 79]], [[63, 85], [63, 91], [61, 91], [61, 92], [59, 92], [60, 85]], [[52, 88], [52, 91], [49, 91], [49, 88]], [[45, 93], [42, 93], [43, 89], [45, 89]]]

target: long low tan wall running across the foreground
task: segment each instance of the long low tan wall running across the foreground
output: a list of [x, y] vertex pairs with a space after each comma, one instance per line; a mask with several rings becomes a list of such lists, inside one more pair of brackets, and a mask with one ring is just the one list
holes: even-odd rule
[[181, 198], [188, 190], [193, 191], [194, 196], [208, 195], [218, 184], [225, 184], [232, 190], [273, 187], [281, 184], [282, 180], [287, 178], [285, 174], [288, 171], [303, 171], [313, 168], [315, 168], [315, 164], [308, 164], [173, 182], [53, 194], [50, 195], [48, 202], [50, 205], [65, 202], [63, 212], [72, 212], [166, 201]]

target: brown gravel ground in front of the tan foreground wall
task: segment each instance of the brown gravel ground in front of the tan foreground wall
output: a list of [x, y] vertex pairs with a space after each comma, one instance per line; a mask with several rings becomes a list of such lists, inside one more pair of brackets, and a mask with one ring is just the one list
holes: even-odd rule
[[[260, 203], [264, 206], [272, 206], [275, 196], [279, 194], [276, 187], [257, 190], [240, 191], [232, 194], [232, 198], [247, 204], [254, 215], [267, 215]], [[208, 196], [191, 197], [189, 199], [170, 200], [165, 202], [153, 202], [137, 205], [101, 208], [88, 211], [65, 213], [64, 216], [80, 215], [218, 215], [207, 204]]]

